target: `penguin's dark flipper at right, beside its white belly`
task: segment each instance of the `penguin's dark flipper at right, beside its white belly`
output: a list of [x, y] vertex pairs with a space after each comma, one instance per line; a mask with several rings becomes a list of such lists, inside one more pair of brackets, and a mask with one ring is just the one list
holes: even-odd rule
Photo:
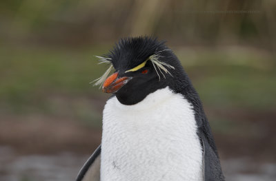
[[221, 165], [217, 153], [210, 147], [210, 144], [205, 136], [201, 133], [201, 141], [204, 156], [204, 181], [224, 181], [224, 175], [221, 171]]

